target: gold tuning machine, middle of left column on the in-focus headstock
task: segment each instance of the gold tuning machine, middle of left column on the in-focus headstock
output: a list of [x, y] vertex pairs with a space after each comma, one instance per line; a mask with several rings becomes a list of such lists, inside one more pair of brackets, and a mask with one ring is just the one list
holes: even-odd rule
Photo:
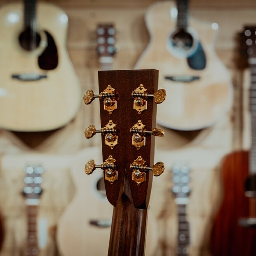
[[116, 135], [116, 131], [116, 124], [114, 124], [112, 120], [109, 120], [107, 125], [100, 130], [96, 130], [94, 125], [89, 125], [85, 129], [85, 138], [92, 138], [96, 133], [101, 133], [102, 135], [105, 135], [105, 144], [113, 149], [114, 146], [118, 144], [118, 136]]

